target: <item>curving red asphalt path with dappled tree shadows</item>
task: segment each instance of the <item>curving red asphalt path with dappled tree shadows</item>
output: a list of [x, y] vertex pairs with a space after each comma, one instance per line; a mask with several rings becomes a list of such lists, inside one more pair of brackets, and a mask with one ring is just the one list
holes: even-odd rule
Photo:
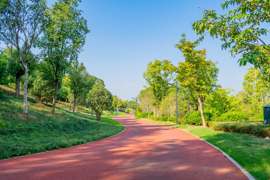
[[0, 179], [248, 179], [227, 157], [177, 128], [114, 117], [115, 136], [0, 160]]

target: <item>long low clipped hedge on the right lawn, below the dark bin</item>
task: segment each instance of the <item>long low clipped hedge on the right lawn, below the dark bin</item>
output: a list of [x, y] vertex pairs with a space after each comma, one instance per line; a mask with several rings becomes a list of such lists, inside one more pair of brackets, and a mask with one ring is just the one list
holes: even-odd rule
[[260, 121], [229, 121], [229, 122], [209, 122], [208, 125], [214, 131], [224, 131], [233, 133], [245, 133], [258, 137], [270, 136], [270, 125], [263, 125]]

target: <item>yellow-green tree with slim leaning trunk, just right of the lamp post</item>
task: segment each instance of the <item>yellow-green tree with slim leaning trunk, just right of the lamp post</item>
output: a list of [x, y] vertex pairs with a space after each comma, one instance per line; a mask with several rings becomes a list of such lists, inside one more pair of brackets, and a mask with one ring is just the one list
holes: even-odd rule
[[179, 44], [174, 46], [183, 53], [185, 62], [179, 62], [177, 79], [179, 85], [192, 89], [197, 93], [197, 99], [203, 127], [206, 127], [202, 113], [202, 99], [216, 86], [218, 68], [211, 60], [206, 60], [206, 50], [196, 50], [196, 43], [187, 41], [182, 34]]

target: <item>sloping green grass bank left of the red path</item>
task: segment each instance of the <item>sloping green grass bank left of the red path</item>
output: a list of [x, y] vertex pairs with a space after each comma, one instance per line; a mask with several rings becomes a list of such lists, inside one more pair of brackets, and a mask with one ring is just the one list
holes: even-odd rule
[[100, 121], [90, 117], [89, 111], [72, 112], [61, 107], [56, 107], [52, 115], [50, 105], [37, 104], [30, 98], [30, 116], [23, 117], [22, 101], [22, 97], [10, 95], [0, 98], [0, 159], [83, 144], [125, 129], [111, 119], [115, 112], [104, 112]]

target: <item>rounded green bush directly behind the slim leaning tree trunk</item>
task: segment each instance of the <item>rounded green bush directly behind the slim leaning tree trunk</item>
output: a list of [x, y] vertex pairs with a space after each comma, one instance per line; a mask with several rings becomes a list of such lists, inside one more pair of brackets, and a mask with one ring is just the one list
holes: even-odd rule
[[[203, 116], [205, 119], [205, 123], [210, 121], [212, 114], [206, 110], [203, 110]], [[193, 111], [187, 118], [182, 120], [183, 124], [190, 124], [190, 125], [202, 125], [202, 118], [200, 115], [200, 110]]]

